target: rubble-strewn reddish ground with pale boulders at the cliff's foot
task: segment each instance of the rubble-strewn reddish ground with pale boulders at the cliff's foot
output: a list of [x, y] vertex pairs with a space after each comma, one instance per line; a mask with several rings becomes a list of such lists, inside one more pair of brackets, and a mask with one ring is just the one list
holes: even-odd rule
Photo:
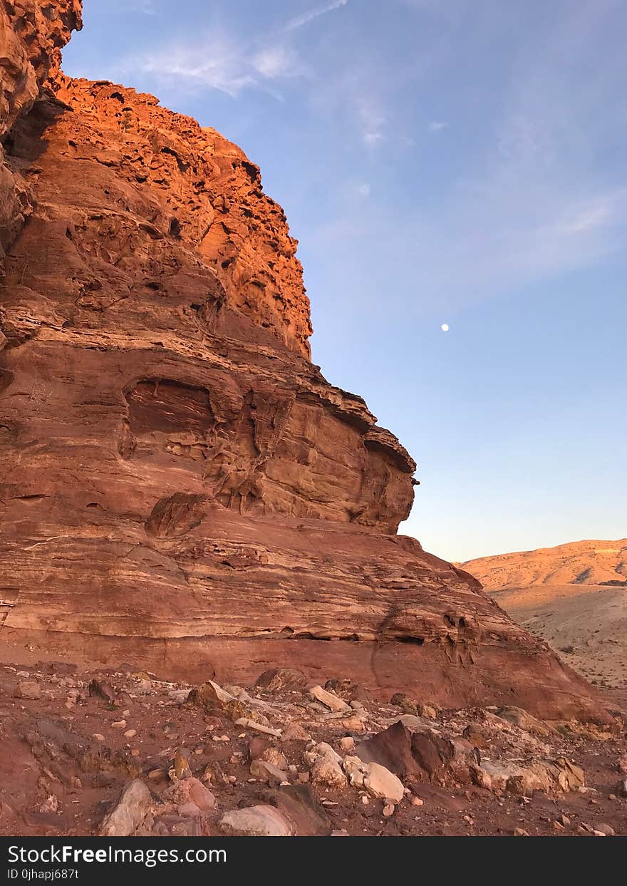
[[286, 669], [242, 688], [4, 663], [0, 835], [627, 835], [607, 697], [609, 728]]

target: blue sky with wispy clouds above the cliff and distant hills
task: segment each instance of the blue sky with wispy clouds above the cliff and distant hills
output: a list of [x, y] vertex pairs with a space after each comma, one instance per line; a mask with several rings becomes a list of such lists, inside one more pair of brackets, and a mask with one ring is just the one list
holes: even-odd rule
[[314, 362], [418, 462], [401, 532], [453, 560], [627, 535], [622, 0], [84, 6], [67, 74], [259, 163]]

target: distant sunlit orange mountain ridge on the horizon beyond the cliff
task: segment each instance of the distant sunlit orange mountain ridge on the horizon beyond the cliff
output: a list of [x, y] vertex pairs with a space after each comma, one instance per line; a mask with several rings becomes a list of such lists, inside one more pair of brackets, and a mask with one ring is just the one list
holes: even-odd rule
[[627, 586], [627, 539], [571, 541], [556, 548], [478, 557], [460, 564], [486, 588]]

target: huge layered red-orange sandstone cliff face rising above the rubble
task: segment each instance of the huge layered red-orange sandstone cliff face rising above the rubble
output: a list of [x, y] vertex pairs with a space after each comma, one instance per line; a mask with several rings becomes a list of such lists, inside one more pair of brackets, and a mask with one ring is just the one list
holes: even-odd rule
[[[48, 5], [77, 26], [78, 4]], [[10, 124], [33, 211], [0, 303], [2, 638], [599, 716], [476, 579], [395, 534], [415, 464], [309, 361], [296, 243], [258, 167], [107, 82], [59, 74]]]

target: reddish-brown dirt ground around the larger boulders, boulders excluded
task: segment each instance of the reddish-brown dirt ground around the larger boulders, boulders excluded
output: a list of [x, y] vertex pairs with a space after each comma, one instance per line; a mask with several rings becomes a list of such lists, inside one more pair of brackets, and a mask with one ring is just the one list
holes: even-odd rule
[[[486, 759], [515, 767], [523, 760], [566, 758], [584, 770], [585, 786], [521, 796], [480, 786], [468, 777], [472, 766], [452, 764], [430, 777], [404, 779], [405, 796], [391, 804], [350, 784], [316, 783], [306, 762], [307, 750], [311, 756], [320, 742], [345, 757], [351, 739], [359, 744], [380, 734], [403, 714], [398, 703], [374, 701], [348, 681], [330, 684], [352, 705], [348, 719], [337, 719], [306, 687], [228, 688], [282, 732], [271, 736], [237, 725], [226, 711], [186, 703], [190, 686], [159, 682], [131, 665], [96, 673], [17, 648], [0, 649], [0, 660], [0, 835], [97, 835], [134, 777], [150, 788], [156, 809], [138, 834], [221, 835], [225, 812], [265, 803], [289, 813], [302, 835], [627, 835], [627, 796], [621, 796], [627, 692], [621, 689], [604, 690], [617, 715], [609, 730], [561, 724], [558, 732], [537, 734], [541, 724], [529, 732], [491, 710], [421, 711], [418, 704], [424, 716], [415, 718], [416, 728], [430, 741], [444, 746], [452, 740], [482, 766]], [[112, 691], [112, 701], [89, 695], [94, 678]], [[40, 697], [19, 697], [29, 692]], [[252, 776], [252, 761], [267, 756], [268, 748], [283, 755], [282, 784]], [[202, 815], [167, 800], [182, 756], [187, 774], [215, 797], [214, 808]]]

